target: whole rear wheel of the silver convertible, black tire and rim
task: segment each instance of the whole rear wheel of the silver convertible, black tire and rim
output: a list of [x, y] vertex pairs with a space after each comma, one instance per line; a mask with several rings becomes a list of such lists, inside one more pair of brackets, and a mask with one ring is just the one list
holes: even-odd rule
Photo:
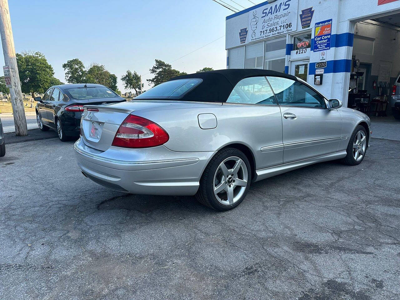
[[246, 155], [238, 149], [225, 148], [208, 163], [196, 198], [215, 210], [231, 210], [246, 197], [250, 183], [251, 167]]

